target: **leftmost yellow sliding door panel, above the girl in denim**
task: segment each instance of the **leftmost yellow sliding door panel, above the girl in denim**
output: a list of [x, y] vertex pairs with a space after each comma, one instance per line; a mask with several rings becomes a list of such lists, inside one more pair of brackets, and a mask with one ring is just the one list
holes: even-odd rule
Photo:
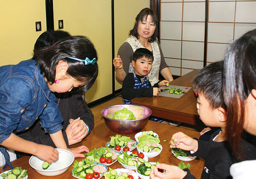
[[[0, 66], [32, 57], [35, 40], [46, 31], [44, 0], [0, 0]], [[41, 21], [42, 31], [35, 32]]]

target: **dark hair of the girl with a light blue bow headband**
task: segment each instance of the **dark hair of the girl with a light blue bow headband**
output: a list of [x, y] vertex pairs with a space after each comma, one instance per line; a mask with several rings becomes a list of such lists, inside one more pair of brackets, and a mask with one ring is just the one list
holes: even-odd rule
[[83, 61], [76, 61], [67, 57], [79, 59], [93, 58], [98, 60], [96, 49], [90, 40], [84, 36], [70, 36], [63, 38], [52, 46], [36, 50], [35, 63], [39, 66], [41, 73], [47, 78], [49, 83], [55, 82], [55, 69], [59, 61], [65, 61], [69, 65], [67, 74], [78, 81], [86, 81], [87, 84], [81, 87], [85, 92], [92, 87], [98, 76], [98, 64], [85, 65]]

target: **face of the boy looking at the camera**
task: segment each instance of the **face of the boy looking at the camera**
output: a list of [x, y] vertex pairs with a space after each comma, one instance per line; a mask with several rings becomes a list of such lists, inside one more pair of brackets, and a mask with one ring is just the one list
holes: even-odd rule
[[148, 75], [152, 68], [153, 60], [150, 58], [139, 58], [137, 61], [131, 61], [132, 66], [134, 67], [134, 71], [136, 75], [145, 76]]

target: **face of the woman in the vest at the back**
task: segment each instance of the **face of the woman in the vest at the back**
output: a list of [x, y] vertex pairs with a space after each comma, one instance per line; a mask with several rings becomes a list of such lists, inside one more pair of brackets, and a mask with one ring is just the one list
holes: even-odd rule
[[140, 38], [148, 39], [150, 38], [156, 29], [156, 24], [153, 22], [151, 15], [147, 18], [143, 18], [142, 22], [139, 21], [137, 32]]

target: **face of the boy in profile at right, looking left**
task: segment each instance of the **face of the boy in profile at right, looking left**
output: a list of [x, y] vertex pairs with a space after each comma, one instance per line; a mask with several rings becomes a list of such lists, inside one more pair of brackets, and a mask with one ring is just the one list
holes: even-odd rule
[[198, 93], [196, 107], [198, 109], [198, 114], [201, 121], [203, 121], [206, 126], [224, 127], [226, 125], [224, 109], [221, 107], [211, 109], [210, 104], [204, 97], [203, 92]]

